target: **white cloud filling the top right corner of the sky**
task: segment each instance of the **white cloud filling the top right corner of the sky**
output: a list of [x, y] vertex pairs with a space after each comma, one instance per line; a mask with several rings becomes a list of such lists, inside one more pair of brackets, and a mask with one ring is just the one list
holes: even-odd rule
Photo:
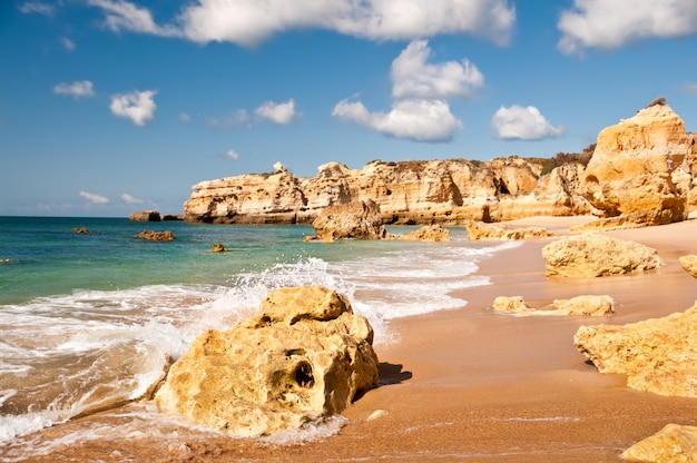
[[583, 48], [617, 48], [647, 37], [697, 33], [695, 0], [575, 0], [557, 24], [562, 32], [558, 48], [580, 53]]

